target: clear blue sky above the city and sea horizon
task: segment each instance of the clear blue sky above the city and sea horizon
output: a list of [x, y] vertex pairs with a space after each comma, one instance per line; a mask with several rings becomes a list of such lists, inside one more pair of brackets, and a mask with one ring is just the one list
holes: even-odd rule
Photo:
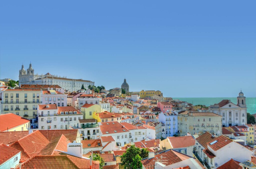
[[2, 1], [1, 78], [31, 61], [107, 89], [256, 96], [256, 1]]

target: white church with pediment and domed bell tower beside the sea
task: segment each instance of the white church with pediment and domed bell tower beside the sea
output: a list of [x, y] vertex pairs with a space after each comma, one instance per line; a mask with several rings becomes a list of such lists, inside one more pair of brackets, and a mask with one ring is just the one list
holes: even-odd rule
[[242, 91], [237, 97], [237, 104], [222, 100], [218, 104], [210, 105], [209, 111], [222, 116], [222, 127], [247, 124], [246, 97]]

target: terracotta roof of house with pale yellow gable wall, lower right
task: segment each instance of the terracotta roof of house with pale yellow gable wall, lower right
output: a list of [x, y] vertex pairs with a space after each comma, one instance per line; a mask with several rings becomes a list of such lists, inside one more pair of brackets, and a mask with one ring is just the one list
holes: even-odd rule
[[192, 136], [167, 137], [167, 139], [170, 141], [174, 149], [193, 146], [196, 142], [196, 140]]

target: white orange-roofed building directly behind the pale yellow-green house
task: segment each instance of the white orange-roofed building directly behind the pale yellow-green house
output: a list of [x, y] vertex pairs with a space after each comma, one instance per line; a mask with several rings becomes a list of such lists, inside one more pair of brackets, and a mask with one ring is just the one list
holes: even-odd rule
[[77, 109], [80, 110], [81, 106], [84, 104], [95, 104], [99, 105], [102, 97], [95, 96], [94, 94], [82, 94], [77, 98]]

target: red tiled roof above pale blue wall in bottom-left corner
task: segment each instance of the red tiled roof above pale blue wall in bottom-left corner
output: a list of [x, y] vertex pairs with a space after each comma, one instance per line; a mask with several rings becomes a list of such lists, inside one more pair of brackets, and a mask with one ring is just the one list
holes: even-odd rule
[[9, 147], [5, 144], [0, 144], [0, 165], [10, 160], [12, 157], [17, 155], [20, 151]]

